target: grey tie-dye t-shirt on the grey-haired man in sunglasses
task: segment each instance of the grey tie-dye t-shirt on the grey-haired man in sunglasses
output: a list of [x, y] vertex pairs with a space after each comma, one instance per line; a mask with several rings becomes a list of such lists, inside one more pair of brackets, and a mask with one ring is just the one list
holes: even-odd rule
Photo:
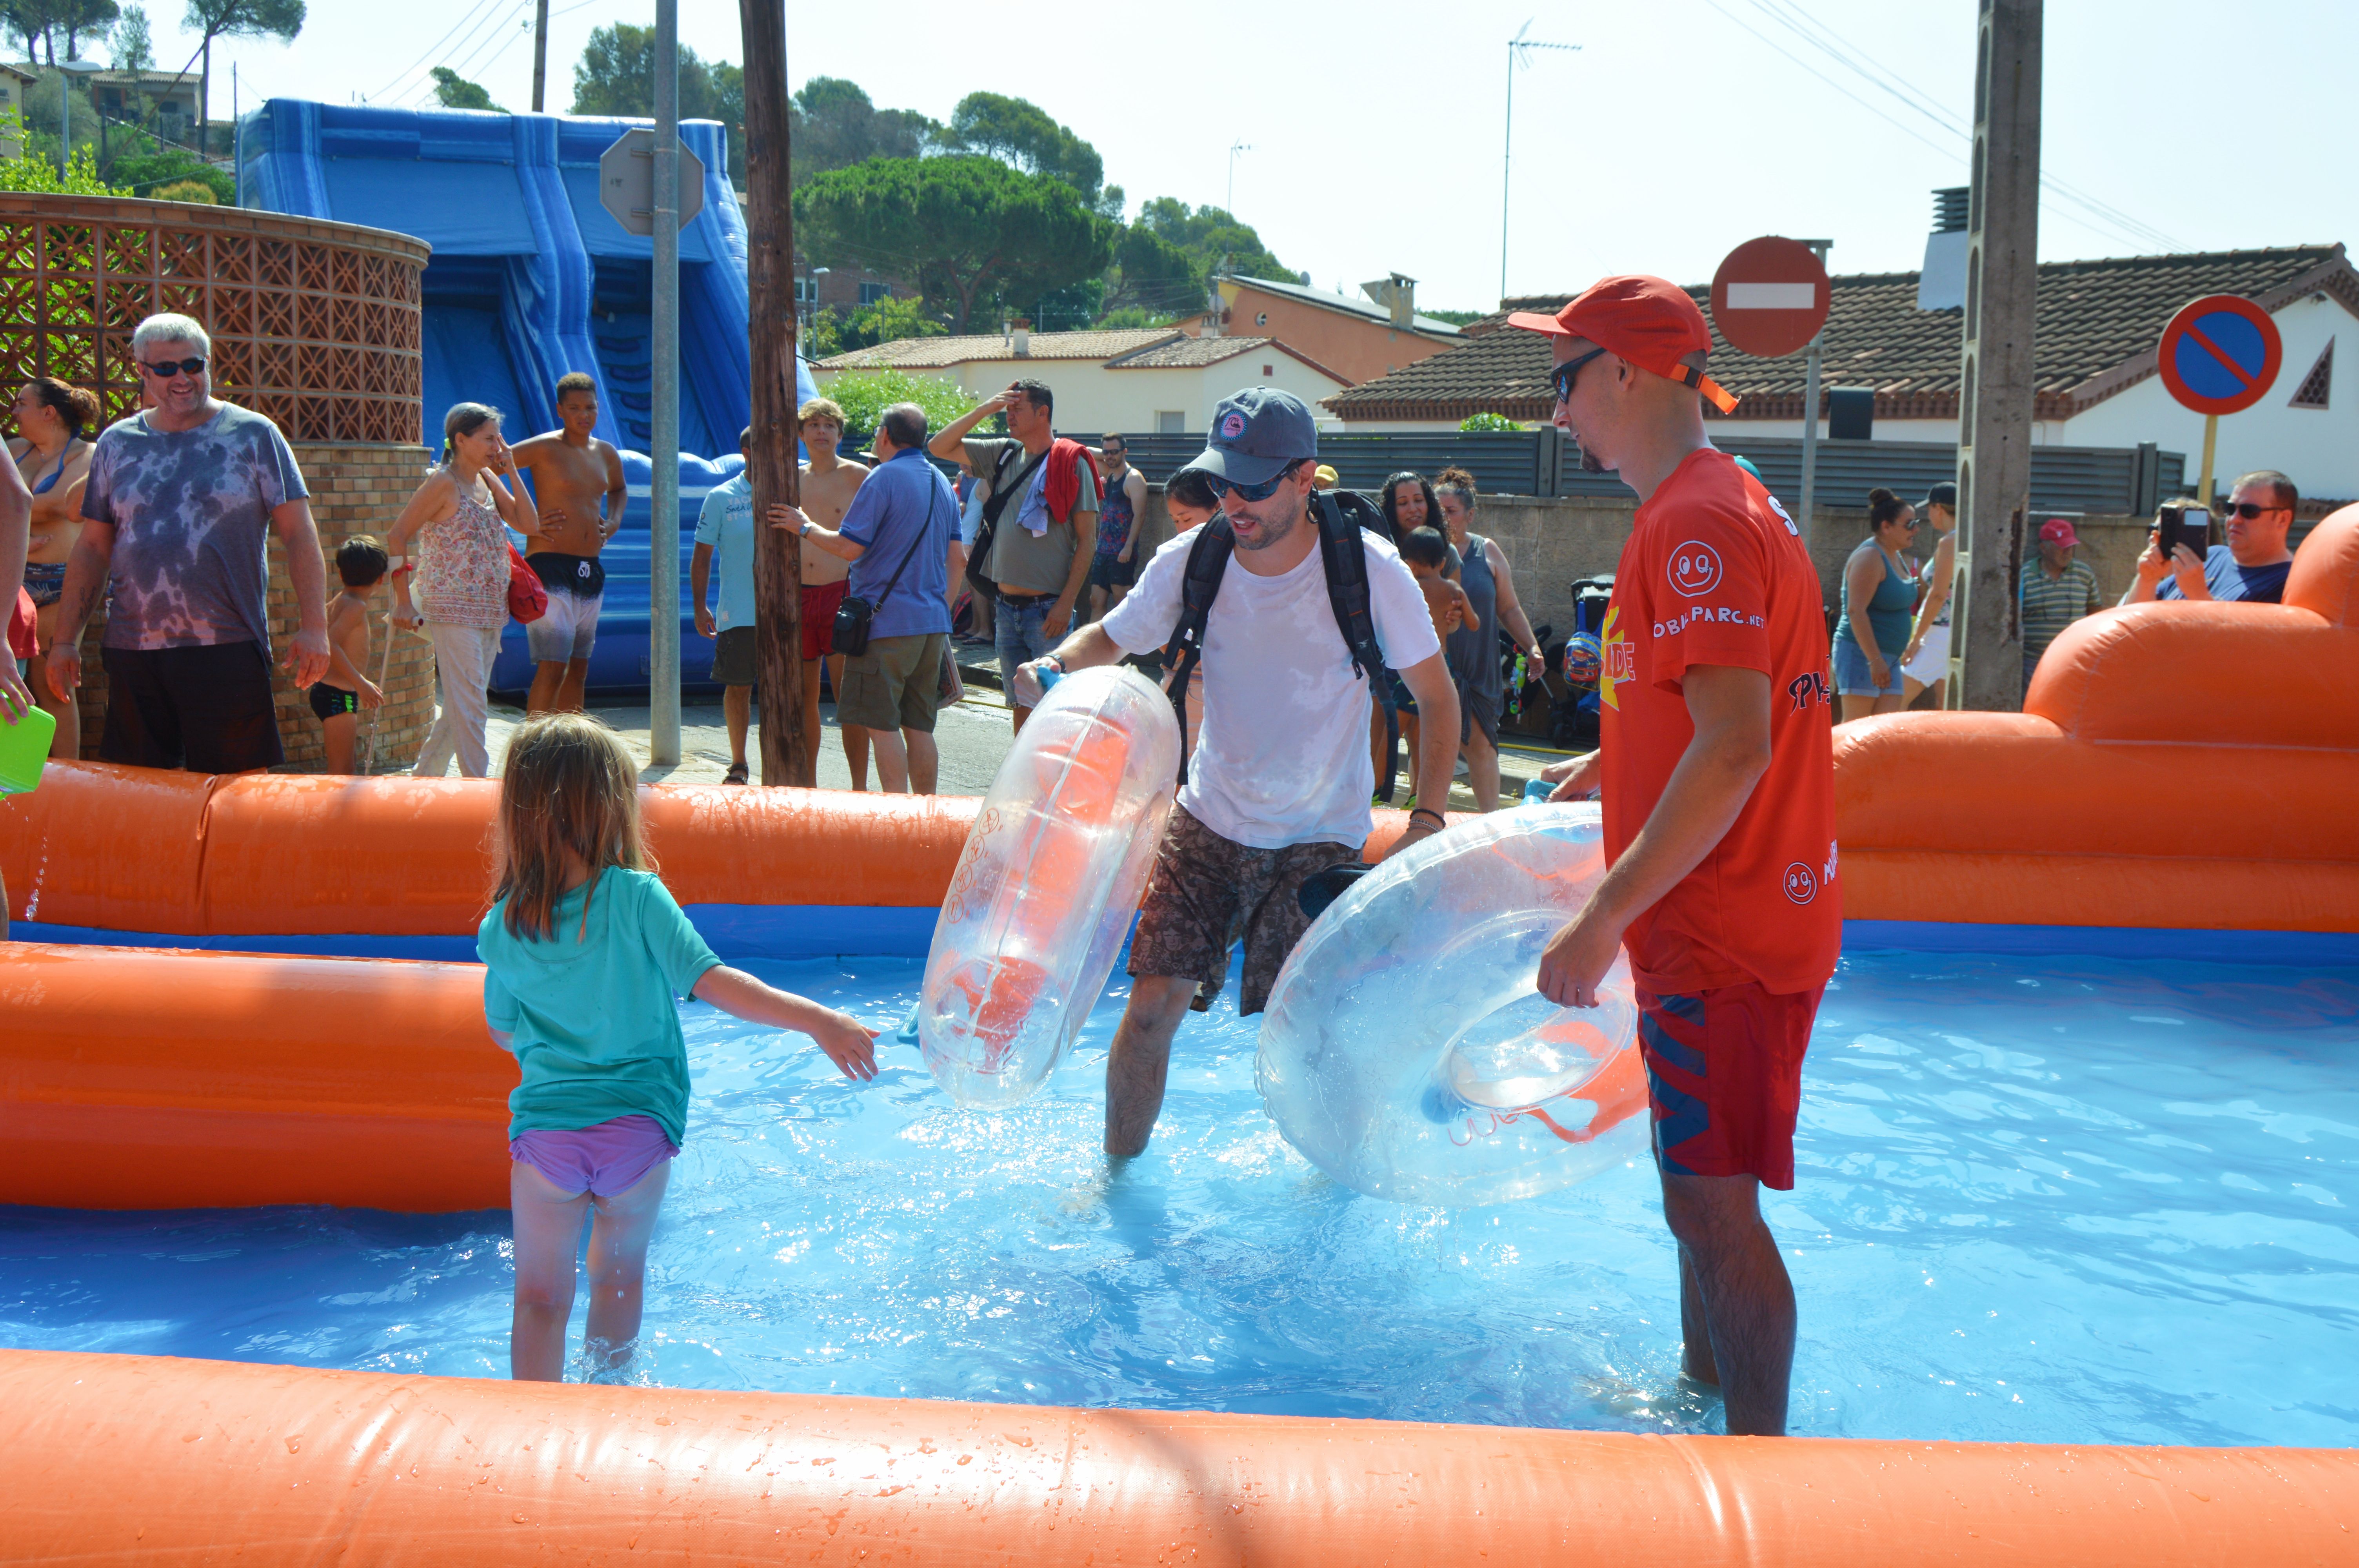
[[83, 516], [113, 523], [109, 648], [271, 646], [264, 538], [271, 509], [307, 498], [295, 450], [231, 403], [196, 429], [144, 413], [109, 424], [90, 455]]

